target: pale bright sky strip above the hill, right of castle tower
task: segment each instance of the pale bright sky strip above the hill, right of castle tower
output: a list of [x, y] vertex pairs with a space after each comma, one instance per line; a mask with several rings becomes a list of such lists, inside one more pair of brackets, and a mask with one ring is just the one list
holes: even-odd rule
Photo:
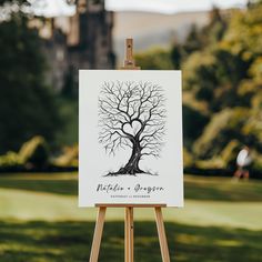
[[107, 9], [112, 11], [151, 11], [175, 13], [183, 11], [209, 10], [219, 8], [243, 7], [246, 0], [105, 0]]

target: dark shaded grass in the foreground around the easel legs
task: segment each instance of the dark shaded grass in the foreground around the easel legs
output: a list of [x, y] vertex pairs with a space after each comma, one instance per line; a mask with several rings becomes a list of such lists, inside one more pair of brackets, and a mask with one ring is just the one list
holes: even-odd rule
[[[89, 260], [93, 222], [0, 222], [1, 262]], [[258, 262], [262, 232], [167, 223], [171, 261]], [[123, 261], [123, 223], [107, 222], [99, 261]], [[135, 223], [134, 261], [159, 262], [155, 224]]]

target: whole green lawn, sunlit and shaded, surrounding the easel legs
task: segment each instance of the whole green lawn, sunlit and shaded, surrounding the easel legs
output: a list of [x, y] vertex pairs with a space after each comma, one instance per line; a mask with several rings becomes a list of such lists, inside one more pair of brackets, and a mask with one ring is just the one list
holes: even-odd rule
[[[88, 261], [95, 209], [77, 189], [75, 173], [1, 175], [0, 261]], [[171, 261], [261, 261], [261, 196], [260, 181], [187, 175], [185, 208], [164, 210]], [[123, 261], [122, 219], [109, 210], [99, 261]], [[134, 244], [135, 261], [161, 261], [151, 209], [135, 210]]]

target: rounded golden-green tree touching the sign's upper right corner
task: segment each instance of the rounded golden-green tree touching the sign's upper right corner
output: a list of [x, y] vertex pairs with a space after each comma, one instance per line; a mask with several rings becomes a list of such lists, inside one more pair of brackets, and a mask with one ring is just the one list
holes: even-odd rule
[[202, 51], [191, 56], [185, 63], [184, 84], [195, 93], [195, 98], [209, 103], [211, 112], [225, 107], [246, 105], [238, 99], [238, 89], [243, 78], [248, 78], [249, 61], [241, 54], [233, 54], [224, 49]]

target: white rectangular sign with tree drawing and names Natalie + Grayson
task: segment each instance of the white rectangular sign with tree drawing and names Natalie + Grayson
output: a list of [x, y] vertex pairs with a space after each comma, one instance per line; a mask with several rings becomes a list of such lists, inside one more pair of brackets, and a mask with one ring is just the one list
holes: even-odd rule
[[180, 71], [80, 70], [79, 205], [183, 205]]

